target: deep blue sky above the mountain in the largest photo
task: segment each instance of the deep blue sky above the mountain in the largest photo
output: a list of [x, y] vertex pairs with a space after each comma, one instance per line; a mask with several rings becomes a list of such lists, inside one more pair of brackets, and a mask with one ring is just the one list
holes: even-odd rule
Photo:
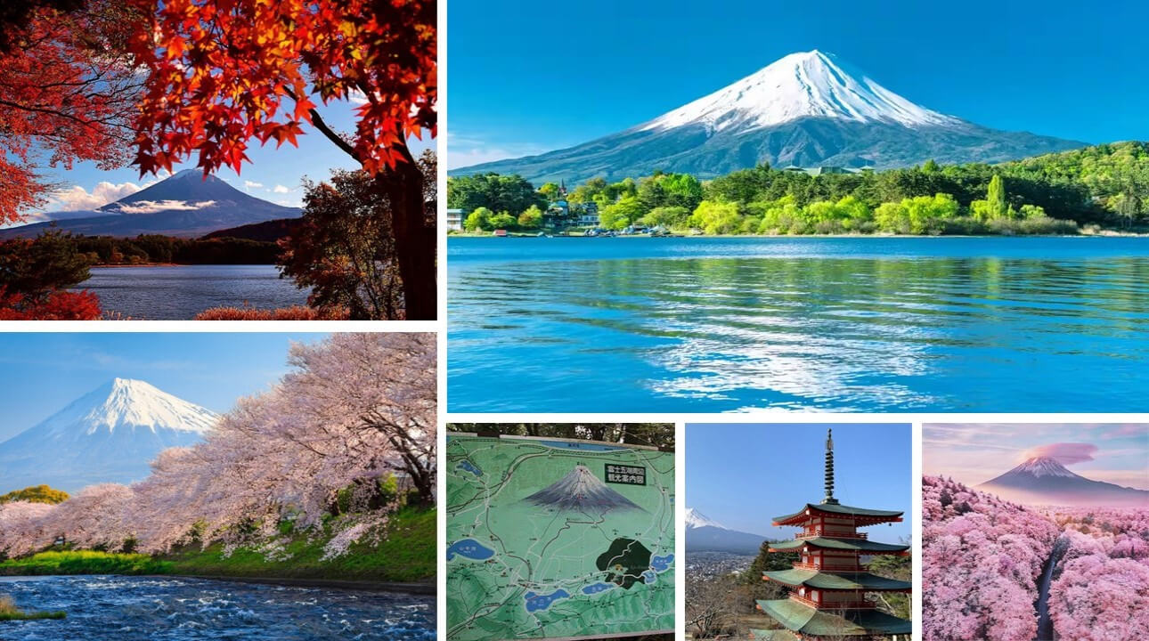
[[810, 49], [986, 126], [1144, 140], [1147, 22], [1065, 0], [452, 2], [448, 164], [585, 142]]

